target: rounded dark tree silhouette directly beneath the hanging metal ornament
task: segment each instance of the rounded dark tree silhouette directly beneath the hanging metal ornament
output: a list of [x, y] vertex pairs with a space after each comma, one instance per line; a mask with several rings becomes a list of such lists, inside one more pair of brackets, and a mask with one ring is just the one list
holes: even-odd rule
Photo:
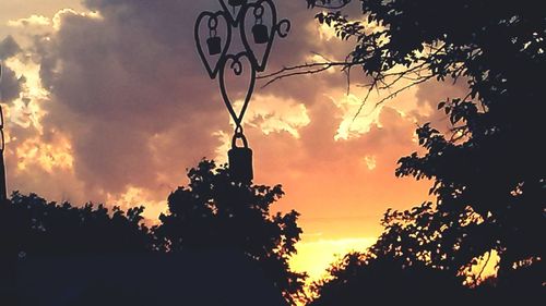
[[284, 192], [274, 187], [234, 183], [226, 167], [203, 160], [189, 170], [188, 186], [168, 197], [169, 212], [154, 234], [161, 248], [178, 252], [188, 247], [226, 247], [245, 252], [294, 303], [301, 293], [305, 274], [288, 267], [301, 229], [299, 213], [271, 215], [270, 206]]

